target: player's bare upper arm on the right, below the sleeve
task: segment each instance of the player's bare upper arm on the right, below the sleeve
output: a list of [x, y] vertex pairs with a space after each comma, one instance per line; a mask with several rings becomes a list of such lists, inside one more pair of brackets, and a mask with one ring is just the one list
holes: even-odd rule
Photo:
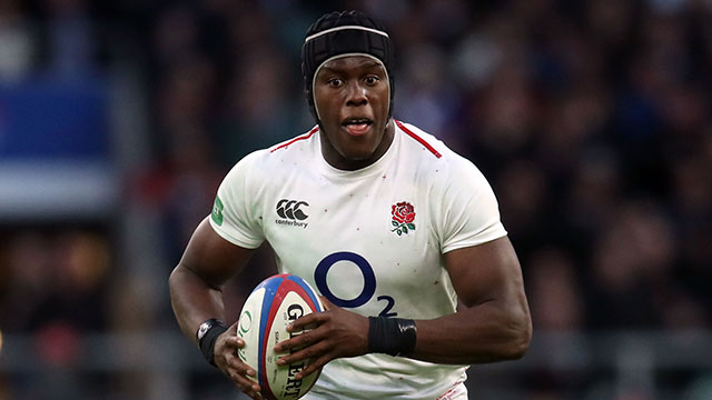
[[445, 264], [466, 307], [487, 301], [525, 307], [522, 269], [507, 237], [448, 251]]

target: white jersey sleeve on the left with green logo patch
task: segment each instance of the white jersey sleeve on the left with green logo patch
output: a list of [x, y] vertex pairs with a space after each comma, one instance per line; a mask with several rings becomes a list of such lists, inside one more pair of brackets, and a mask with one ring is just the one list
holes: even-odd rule
[[259, 201], [254, 181], [254, 162], [258, 152], [240, 160], [218, 188], [210, 226], [222, 239], [246, 249], [256, 249], [265, 236], [259, 221]]

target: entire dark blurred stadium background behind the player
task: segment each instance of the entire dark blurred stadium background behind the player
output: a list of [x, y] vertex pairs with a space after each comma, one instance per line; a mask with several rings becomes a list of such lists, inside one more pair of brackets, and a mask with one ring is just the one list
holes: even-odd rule
[[235, 398], [167, 277], [231, 164], [312, 127], [333, 9], [383, 21], [396, 118], [498, 194], [535, 333], [472, 398], [711, 399], [705, 0], [0, 0], [0, 399]]

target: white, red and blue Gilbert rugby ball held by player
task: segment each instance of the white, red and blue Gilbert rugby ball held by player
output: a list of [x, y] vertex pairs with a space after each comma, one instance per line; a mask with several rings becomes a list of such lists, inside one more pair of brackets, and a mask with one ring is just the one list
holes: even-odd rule
[[310, 360], [288, 366], [277, 366], [280, 357], [275, 353], [275, 344], [301, 334], [287, 332], [287, 324], [312, 312], [320, 312], [324, 306], [317, 292], [304, 279], [280, 273], [265, 279], [249, 294], [240, 311], [237, 336], [245, 340], [238, 350], [243, 362], [257, 372], [253, 380], [259, 383], [265, 399], [298, 399], [304, 396], [319, 377], [319, 371], [303, 379], [295, 376]]

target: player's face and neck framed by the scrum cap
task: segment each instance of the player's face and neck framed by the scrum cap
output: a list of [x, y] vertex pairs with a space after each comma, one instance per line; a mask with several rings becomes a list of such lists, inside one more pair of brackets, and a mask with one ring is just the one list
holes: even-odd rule
[[388, 150], [394, 132], [389, 90], [383, 64], [368, 57], [338, 58], [319, 69], [314, 101], [322, 121], [322, 153], [329, 164], [355, 170]]

